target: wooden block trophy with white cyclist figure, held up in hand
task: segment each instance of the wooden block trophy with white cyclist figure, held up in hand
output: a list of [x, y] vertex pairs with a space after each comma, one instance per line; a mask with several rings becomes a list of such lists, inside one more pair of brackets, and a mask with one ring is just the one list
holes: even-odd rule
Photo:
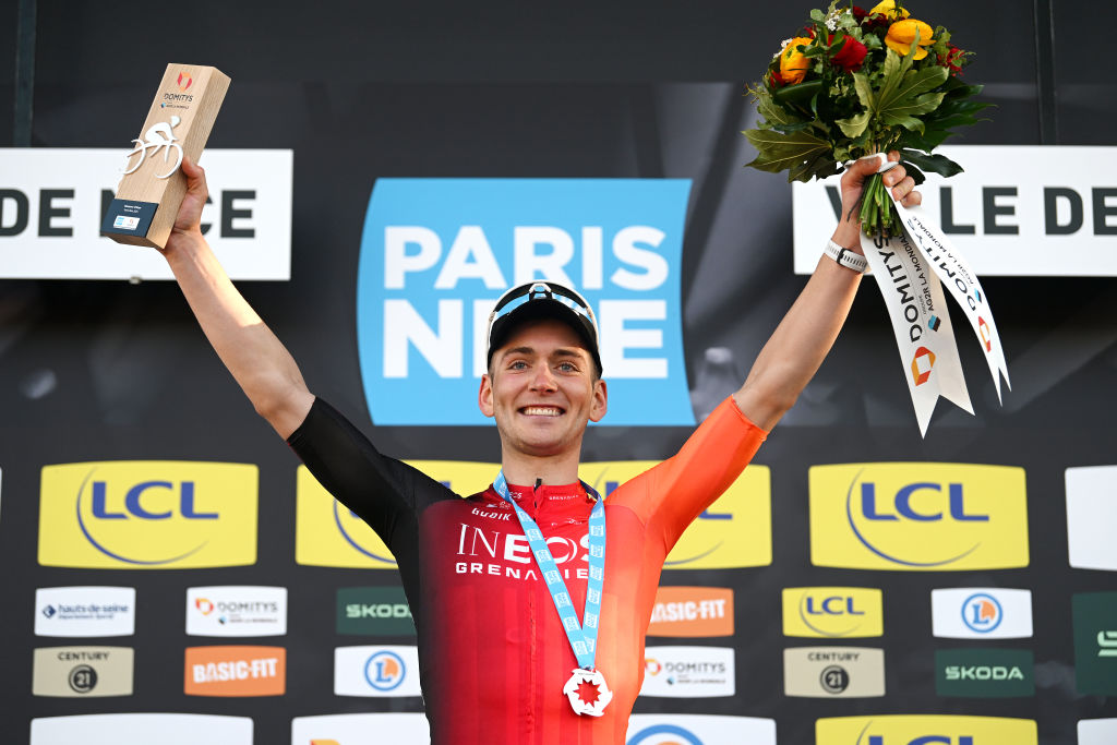
[[228, 89], [229, 77], [216, 67], [166, 66], [147, 120], [132, 141], [135, 147], [101, 223], [102, 236], [132, 246], [166, 246], [187, 193], [182, 157], [198, 162]]

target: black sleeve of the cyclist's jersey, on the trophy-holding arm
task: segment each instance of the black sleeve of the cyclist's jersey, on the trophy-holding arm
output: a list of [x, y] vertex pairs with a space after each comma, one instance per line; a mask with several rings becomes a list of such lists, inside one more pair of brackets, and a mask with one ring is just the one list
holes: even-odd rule
[[433, 502], [457, 498], [446, 486], [380, 453], [345, 417], [315, 399], [287, 443], [338, 502], [367, 523], [400, 565], [404, 584], [418, 570], [418, 519]]

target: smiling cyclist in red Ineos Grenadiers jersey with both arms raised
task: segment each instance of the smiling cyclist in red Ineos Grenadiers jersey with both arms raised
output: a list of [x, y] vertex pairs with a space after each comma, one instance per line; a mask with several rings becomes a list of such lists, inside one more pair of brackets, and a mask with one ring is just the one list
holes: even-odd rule
[[[497, 303], [478, 405], [496, 421], [502, 469], [461, 498], [380, 453], [311, 393], [210, 251], [199, 225], [204, 173], [183, 162], [188, 192], [163, 254], [256, 411], [392, 551], [435, 745], [624, 742], [663, 560], [837, 338], [865, 270], [856, 206], [877, 165], [860, 161], [842, 178], [844, 219], [741, 389], [678, 453], [602, 499], [577, 478], [582, 438], [605, 416], [608, 388], [596, 322], [576, 292], [535, 281]], [[906, 206], [919, 203], [903, 166], [885, 183]]]

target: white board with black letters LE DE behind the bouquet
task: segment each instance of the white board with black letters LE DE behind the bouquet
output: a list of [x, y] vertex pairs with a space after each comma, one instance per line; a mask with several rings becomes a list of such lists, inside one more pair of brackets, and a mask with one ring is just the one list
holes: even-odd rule
[[[935, 152], [965, 172], [928, 173], [918, 212], [939, 223], [978, 276], [1117, 276], [1117, 147], [947, 145]], [[796, 274], [814, 270], [838, 225], [827, 187], [837, 188], [840, 178], [792, 184]]]

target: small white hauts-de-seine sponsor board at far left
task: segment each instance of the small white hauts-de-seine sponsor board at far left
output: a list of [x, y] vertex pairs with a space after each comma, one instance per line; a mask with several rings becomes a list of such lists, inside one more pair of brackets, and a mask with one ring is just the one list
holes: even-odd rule
[[135, 588], [39, 588], [37, 637], [131, 637], [136, 627]]

